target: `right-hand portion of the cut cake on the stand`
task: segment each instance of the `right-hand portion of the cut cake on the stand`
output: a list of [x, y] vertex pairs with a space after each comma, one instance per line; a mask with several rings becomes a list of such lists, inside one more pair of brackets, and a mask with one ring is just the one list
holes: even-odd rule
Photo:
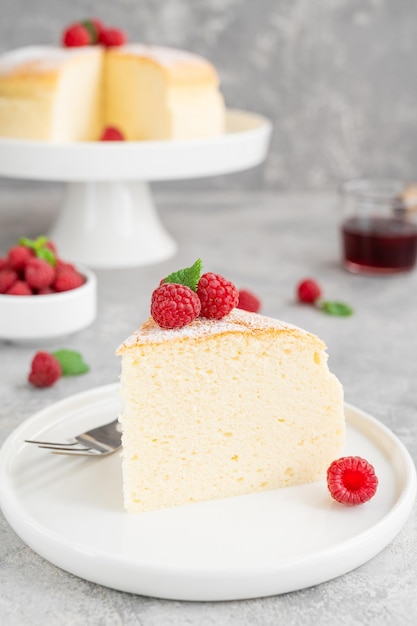
[[192, 139], [224, 132], [219, 78], [205, 59], [131, 44], [106, 55], [105, 118], [128, 140]]

